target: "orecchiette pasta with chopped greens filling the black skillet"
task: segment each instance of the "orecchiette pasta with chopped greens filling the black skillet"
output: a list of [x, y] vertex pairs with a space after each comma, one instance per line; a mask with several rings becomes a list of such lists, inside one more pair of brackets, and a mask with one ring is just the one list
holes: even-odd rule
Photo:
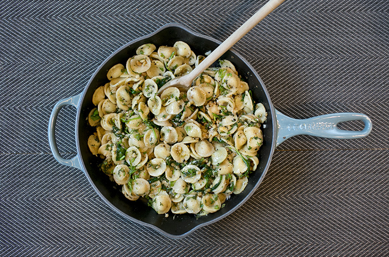
[[230, 61], [206, 69], [188, 92], [157, 94], [204, 59], [182, 41], [141, 45], [92, 97], [90, 152], [128, 200], [145, 197], [158, 214], [215, 212], [259, 164], [267, 112]]

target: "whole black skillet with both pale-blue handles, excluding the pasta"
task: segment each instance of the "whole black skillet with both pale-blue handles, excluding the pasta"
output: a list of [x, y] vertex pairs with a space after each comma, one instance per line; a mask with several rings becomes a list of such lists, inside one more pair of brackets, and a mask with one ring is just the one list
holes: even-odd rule
[[[133, 222], [152, 227], [170, 238], [186, 237], [196, 229], [212, 224], [242, 206], [264, 179], [276, 145], [279, 145], [285, 139], [298, 134], [352, 139], [365, 137], [371, 132], [371, 120], [360, 113], [328, 114], [306, 120], [296, 120], [283, 115], [274, 109], [264, 82], [254, 68], [236, 51], [229, 50], [221, 59], [230, 60], [235, 65], [238, 73], [248, 82], [254, 100], [257, 103], [263, 103], [268, 113], [263, 128], [264, 144], [260, 149], [260, 162], [257, 170], [249, 177], [247, 188], [241, 194], [233, 194], [226, 201], [224, 208], [199, 219], [196, 219], [193, 214], [174, 215], [172, 213], [166, 218], [164, 215], [157, 214], [141, 199], [136, 202], [129, 201], [120, 193], [119, 186], [109, 181], [108, 177], [99, 170], [97, 164], [101, 162], [101, 159], [93, 156], [88, 149], [87, 139], [94, 132], [94, 128], [88, 125], [87, 119], [89, 111], [94, 108], [91, 100], [92, 95], [97, 87], [107, 82], [106, 73], [108, 69], [118, 63], [125, 64], [127, 59], [135, 54], [135, 50], [139, 46], [146, 43], [153, 43], [157, 48], [164, 45], [173, 46], [178, 40], [188, 43], [196, 54], [204, 54], [215, 49], [221, 43], [208, 36], [195, 33], [180, 24], [167, 24], [156, 32], [133, 40], [112, 53], [92, 75], [85, 90], [77, 96], [59, 101], [54, 106], [50, 117], [49, 144], [54, 158], [64, 165], [82, 170], [100, 197], [112, 209]], [[65, 105], [73, 105], [77, 108], [75, 127], [77, 156], [71, 160], [63, 159], [60, 156], [54, 138], [56, 118], [59, 110]], [[336, 124], [339, 122], [351, 120], [362, 120], [365, 128], [362, 131], [345, 131], [336, 128]]]

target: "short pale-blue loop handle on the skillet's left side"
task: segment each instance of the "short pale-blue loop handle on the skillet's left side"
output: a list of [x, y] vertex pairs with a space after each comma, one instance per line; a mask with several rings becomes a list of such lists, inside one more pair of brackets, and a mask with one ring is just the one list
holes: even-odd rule
[[49, 134], [50, 149], [52, 150], [52, 153], [53, 153], [55, 160], [57, 160], [59, 163], [61, 163], [63, 165], [83, 170], [81, 167], [79, 155], [77, 154], [72, 159], [62, 158], [62, 156], [60, 155], [60, 153], [58, 151], [57, 144], [55, 142], [55, 123], [57, 121], [59, 111], [65, 105], [72, 105], [75, 108], [77, 108], [77, 106], [80, 102], [80, 98], [81, 98], [81, 94], [79, 94], [77, 96], [72, 96], [69, 98], [62, 99], [54, 105], [52, 114], [50, 115], [48, 134]]

